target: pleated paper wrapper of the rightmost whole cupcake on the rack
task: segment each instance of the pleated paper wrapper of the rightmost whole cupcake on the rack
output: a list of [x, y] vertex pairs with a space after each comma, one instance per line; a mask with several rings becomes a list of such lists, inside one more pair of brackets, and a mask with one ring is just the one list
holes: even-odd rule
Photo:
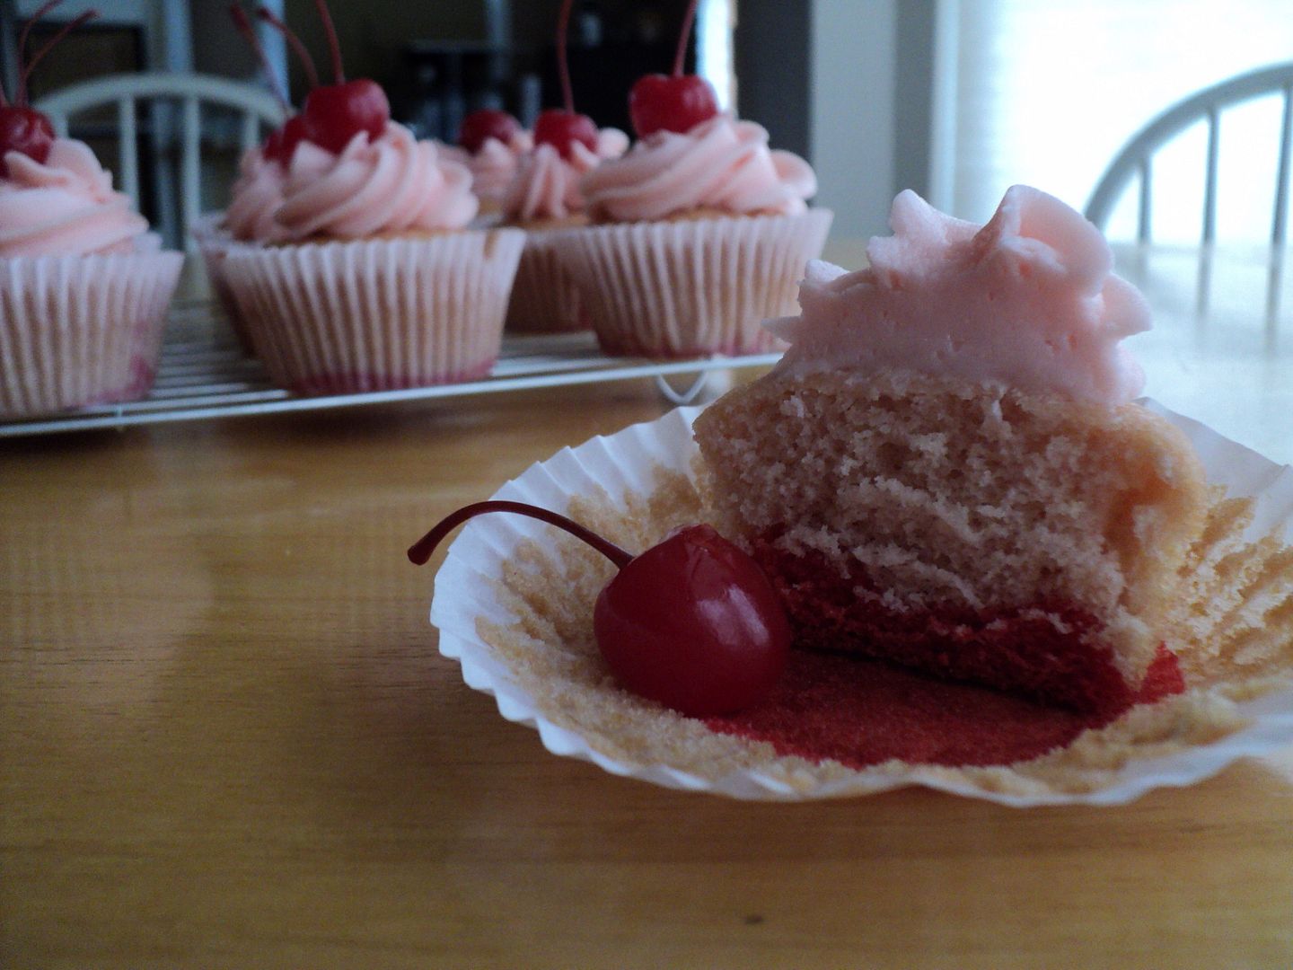
[[597, 341], [610, 354], [767, 353], [764, 319], [795, 310], [804, 264], [821, 255], [829, 210], [600, 225], [564, 233]]

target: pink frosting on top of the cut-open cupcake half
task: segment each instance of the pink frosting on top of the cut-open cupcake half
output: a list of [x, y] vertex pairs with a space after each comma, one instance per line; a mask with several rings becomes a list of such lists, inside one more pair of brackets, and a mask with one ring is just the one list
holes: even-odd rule
[[1016, 185], [980, 228], [904, 191], [890, 225], [868, 269], [808, 265], [803, 314], [769, 323], [791, 344], [777, 374], [905, 369], [1109, 405], [1140, 393], [1118, 341], [1149, 329], [1148, 304], [1063, 202]]

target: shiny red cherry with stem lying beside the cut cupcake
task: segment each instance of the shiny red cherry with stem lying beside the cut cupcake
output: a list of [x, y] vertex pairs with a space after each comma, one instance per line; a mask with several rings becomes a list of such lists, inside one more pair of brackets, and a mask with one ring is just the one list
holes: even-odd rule
[[781, 676], [790, 649], [781, 600], [755, 561], [711, 526], [684, 526], [634, 556], [562, 515], [495, 499], [447, 516], [409, 559], [424, 564], [450, 532], [485, 512], [556, 525], [619, 568], [597, 596], [592, 629], [610, 671], [634, 693], [710, 717], [758, 704]]

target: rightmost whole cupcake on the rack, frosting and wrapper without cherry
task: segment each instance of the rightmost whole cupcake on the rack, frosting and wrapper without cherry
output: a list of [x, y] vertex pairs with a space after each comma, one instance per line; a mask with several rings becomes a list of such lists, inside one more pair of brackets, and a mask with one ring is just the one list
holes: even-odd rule
[[807, 162], [727, 114], [658, 129], [581, 181], [595, 224], [560, 241], [606, 353], [747, 354], [781, 344], [760, 326], [794, 308], [831, 213], [809, 210]]

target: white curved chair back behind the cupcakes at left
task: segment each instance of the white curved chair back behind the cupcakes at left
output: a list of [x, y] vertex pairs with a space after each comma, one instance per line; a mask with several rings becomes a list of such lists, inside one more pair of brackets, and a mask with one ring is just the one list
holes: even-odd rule
[[[158, 177], [158, 206], [163, 230], [186, 248], [193, 248], [189, 228], [202, 215], [202, 106], [217, 105], [240, 115], [238, 146], [240, 151], [260, 144], [262, 129], [283, 120], [283, 111], [268, 92], [250, 84], [202, 74], [122, 74], [75, 84], [41, 98], [36, 109], [49, 116], [54, 131], [66, 136], [69, 119], [105, 105], [116, 106], [118, 186], [140, 204], [138, 102], [171, 102], [175, 113], [153, 113], [151, 146]], [[180, 199], [175, 212], [167, 153], [176, 138], [180, 145]], [[178, 215], [178, 217], [176, 217]]]

